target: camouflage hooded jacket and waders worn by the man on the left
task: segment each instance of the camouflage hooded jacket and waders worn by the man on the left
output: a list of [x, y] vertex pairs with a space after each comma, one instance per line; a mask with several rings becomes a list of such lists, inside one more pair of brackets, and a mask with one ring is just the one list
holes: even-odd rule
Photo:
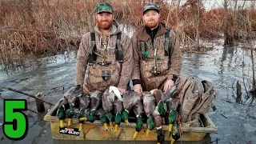
[[[121, 30], [118, 28], [118, 23], [114, 21], [110, 34], [102, 34], [98, 26], [94, 27], [95, 41], [97, 52], [106, 56], [105, 62], [111, 62], [110, 66], [101, 66], [96, 64], [95, 67], [88, 65], [88, 76], [86, 78], [86, 87], [88, 90], [106, 90], [109, 86], [117, 86], [126, 89], [130, 76], [132, 73], [132, 66], [134, 65], [132, 44], [130, 38], [122, 33], [121, 46], [123, 53], [122, 66], [118, 65], [115, 60], [115, 49], [117, 34]], [[92, 53], [90, 48], [91, 38], [90, 32], [82, 37], [79, 46], [77, 65], [76, 65], [76, 84], [81, 85], [84, 83], [86, 68], [89, 61], [89, 54]], [[105, 43], [105, 46], [102, 44]], [[97, 57], [97, 62], [103, 62], [104, 59]], [[110, 71], [109, 80], [102, 78], [102, 70]]]

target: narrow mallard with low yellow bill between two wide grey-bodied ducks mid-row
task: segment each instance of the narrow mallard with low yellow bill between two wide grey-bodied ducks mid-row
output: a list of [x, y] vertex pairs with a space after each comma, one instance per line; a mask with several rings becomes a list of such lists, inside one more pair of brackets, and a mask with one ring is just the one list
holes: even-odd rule
[[[139, 96], [140, 97], [140, 96]], [[134, 114], [136, 116], [136, 126], [135, 126], [135, 132], [134, 132], [134, 139], [137, 138], [138, 132], [142, 130], [142, 112], [143, 112], [143, 105], [141, 99], [138, 100], [138, 102], [134, 106]]]

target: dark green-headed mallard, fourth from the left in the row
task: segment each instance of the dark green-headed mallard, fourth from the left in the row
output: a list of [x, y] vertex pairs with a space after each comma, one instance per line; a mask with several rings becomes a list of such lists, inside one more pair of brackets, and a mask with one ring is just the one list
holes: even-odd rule
[[87, 116], [88, 122], [94, 122], [94, 116], [101, 105], [102, 105], [102, 92], [100, 90], [95, 90], [90, 94], [90, 113]]

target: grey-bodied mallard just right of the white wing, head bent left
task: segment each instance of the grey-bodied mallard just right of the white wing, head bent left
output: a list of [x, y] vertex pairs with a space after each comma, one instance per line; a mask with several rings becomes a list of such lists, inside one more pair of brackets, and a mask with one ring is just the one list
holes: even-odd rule
[[[135, 91], [128, 91], [126, 94], [123, 94], [123, 109], [121, 118], [122, 121], [126, 123], [126, 126], [129, 126], [128, 121], [130, 110], [136, 105], [137, 102], [141, 102], [141, 96]], [[142, 103], [142, 102], [141, 102]], [[143, 106], [142, 106], [143, 109]]]

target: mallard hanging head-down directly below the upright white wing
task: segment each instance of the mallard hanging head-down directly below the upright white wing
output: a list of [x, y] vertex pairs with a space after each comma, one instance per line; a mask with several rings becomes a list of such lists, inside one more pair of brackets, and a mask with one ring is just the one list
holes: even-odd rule
[[122, 101], [116, 99], [113, 106], [114, 111], [114, 133], [118, 131], [118, 126], [121, 123]]

